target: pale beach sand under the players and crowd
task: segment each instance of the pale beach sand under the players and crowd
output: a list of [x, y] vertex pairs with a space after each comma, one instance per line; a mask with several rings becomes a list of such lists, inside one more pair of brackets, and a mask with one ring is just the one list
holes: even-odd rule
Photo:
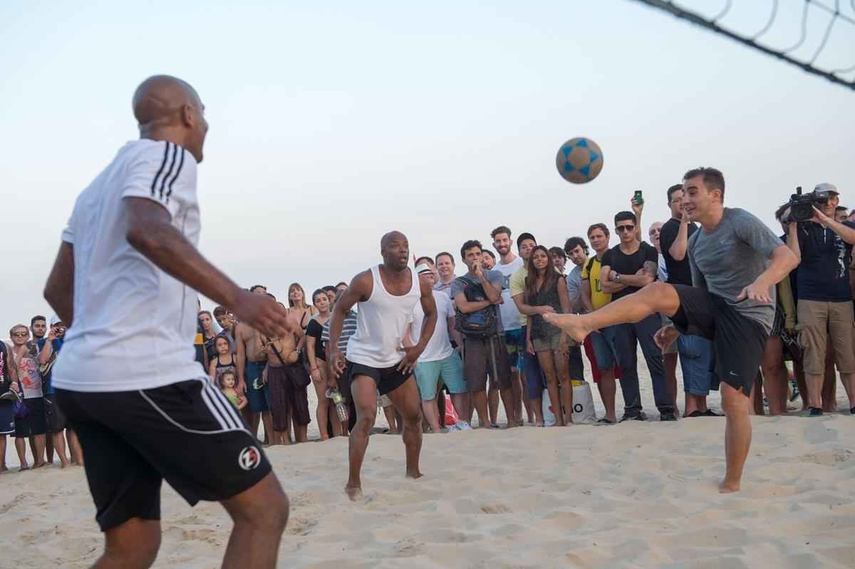
[[[716, 491], [716, 418], [426, 435], [416, 481], [400, 437], [375, 435], [355, 503], [346, 439], [269, 449], [292, 504], [279, 566], [855, 566], [855, 417], [752, 423], [734, 495]], [[88, 566], [102, 548], [93, 516], [80, 468], [0, 475], [0, 567]], [[219, 566], [230, 526], [218, 504], [191, 508], [164, 485], [156, 566]]]

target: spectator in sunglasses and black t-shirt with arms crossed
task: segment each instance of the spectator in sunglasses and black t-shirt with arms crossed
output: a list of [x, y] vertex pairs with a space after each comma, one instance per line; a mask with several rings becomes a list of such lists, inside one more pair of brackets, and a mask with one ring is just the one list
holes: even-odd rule
[[[612, 301], [630, 295], [656, 280], [658, 253], [652, 245], [640, 241], [635, 231], [635, 214], [622, 211], [615, 215], [615, 230], [621, 239], [612, 249], [603, 255], [600, 270], [600, 285], [604, 292], [611, 294]], [[662, 326], [662, 318], [651, 314], [634, 324], [615, 326], [615, 346], [617, 359], [621, 366], [621, 390], [623, 391], [623, 420], [645, 420], [641, 410], [641, 394], [638, 376], [638, 343], [644, 353], [647, 367], [653, 380], [653, 398], [662, 420], [676, 420], [674, 400], [665, 382], [665, 369], [662, 350], [656, 345], [653, 336]]]

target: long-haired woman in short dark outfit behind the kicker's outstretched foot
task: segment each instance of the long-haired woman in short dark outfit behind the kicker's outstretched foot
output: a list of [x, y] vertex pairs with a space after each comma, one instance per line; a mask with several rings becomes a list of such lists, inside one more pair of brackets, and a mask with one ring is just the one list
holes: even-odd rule
[[[537, 245], [526, 263], [526, 302], [531, 306], [550, 306], [557, 314], [570, 312], [570, 299], [564, 275], [553, 266], [549, 249]], [[546, 390], [557, 425], [573, 422], [573, 385], [570, 384], [569, 343], [567, 334], [551, 326], [540, 314], [528, 317], [527, 347], [536, 354], [546, 376]], [[560, 395], [559, 395], [560, 389]], [[537, 424], [543, 425], [541, 400], [533, 400]]]

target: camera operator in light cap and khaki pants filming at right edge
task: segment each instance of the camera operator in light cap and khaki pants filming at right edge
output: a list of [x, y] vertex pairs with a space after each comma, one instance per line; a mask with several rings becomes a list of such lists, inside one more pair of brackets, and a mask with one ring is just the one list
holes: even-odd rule
[[[797, 275], [801, 331], [805, 349], [805, 378], [811, 416], [823, 414], [823, 376], [826, 349], [830, 340], [840, 369], [840, 377], [855, 413], [855, 350], [852, 332], [852, 292], [849, 263], [855, 243], [855, 223], [834, 220], [840, 192], [831, 184], [813, 191], [813, 217], [789, 231], [787, 245], [800, 256]], [[819, 208], [817, 208], [817, 205]], [[788, 216], [790, 221], [792, 214]]]

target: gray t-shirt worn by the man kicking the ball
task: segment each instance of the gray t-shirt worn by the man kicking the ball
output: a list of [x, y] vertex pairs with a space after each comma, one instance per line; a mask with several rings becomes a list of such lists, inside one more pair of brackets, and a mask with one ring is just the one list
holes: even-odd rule
[[689, 238], [692, 284], [721, 296], [737, 312], [771, 331], [775, 321], [774, 285], [769, 288], [771, 304], [747, 299], [736, 302], [736, 297], [766, 270], [772, 251], [780, 246], [781, 239], [752, 214], [740, 208], [724, 208], [715, 229], [706, 232], [701, 228]]

